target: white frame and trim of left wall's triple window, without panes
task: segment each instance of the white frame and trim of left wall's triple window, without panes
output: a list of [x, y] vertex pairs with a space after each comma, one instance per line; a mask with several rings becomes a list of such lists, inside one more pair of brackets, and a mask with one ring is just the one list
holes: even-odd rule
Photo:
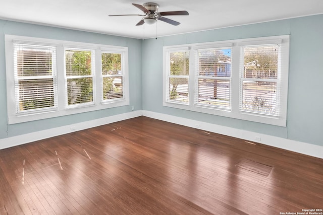
[[[26, 114], [16, 113], [15, 101], [15, 77], [14, 77], [14, 42], [55, 46], [57, 51], [57, 83], [58, 83], [58, 108], [56, 110], [44, 110], [41, 112], [30, 112]], [[65, 71], [65, 48], [93, 50], [93, 103], [86, 105], [67, 106], [67, 84]], [[123, 55], [124, 68], [124, 94], [120, 100], [104, 103], [101, 101], [101, 50], [119, 51]], [[25, 37], [16, 35], [5, 35], [5, 53], [6, 53], [6, 76], [7, 76], [7, 113], [8, 124], [34, 121], [52, 117], [66, 116], [77, 113], [84, 113], [107, 108], [114, 108], [129, 105], [129, 66], [128, 66], [128, 47], [113, 46], [104, 44], [92, 44], [84, 42], [54, 40], [46, 38]]]

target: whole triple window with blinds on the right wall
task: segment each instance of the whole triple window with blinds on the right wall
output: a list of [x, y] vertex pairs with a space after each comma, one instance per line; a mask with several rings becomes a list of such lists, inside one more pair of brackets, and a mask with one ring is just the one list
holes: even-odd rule
[[164, 106], [286, 126], [288, 35], [185, 47], [164, 47]]

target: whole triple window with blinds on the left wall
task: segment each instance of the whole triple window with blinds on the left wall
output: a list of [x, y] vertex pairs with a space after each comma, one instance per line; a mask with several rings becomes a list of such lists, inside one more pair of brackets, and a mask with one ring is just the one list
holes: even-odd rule
[[128, 48], [6, 35], [8, 123], [129, 105]]

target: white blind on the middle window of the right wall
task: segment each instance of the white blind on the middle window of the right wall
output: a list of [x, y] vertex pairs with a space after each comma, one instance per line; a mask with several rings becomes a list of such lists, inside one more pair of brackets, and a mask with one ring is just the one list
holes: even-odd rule
[[194, 104], [230, 109], [231, 48], [196, 51]]

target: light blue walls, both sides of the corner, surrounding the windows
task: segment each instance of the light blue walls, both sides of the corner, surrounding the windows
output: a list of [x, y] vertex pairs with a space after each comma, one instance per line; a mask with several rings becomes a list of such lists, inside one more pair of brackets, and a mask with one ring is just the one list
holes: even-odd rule
[[[130, 106], [8, 125], [5, 34], [128, 46]], [[163, 106], [163, 46], [286, 34], [291, 35], [287, 127]], [[164, 113], [323, 146], [322, 50], [323, 15], [144, 41], [0, 20], [0, 139], [130, 112], [133, 105], [135, 110]]]

